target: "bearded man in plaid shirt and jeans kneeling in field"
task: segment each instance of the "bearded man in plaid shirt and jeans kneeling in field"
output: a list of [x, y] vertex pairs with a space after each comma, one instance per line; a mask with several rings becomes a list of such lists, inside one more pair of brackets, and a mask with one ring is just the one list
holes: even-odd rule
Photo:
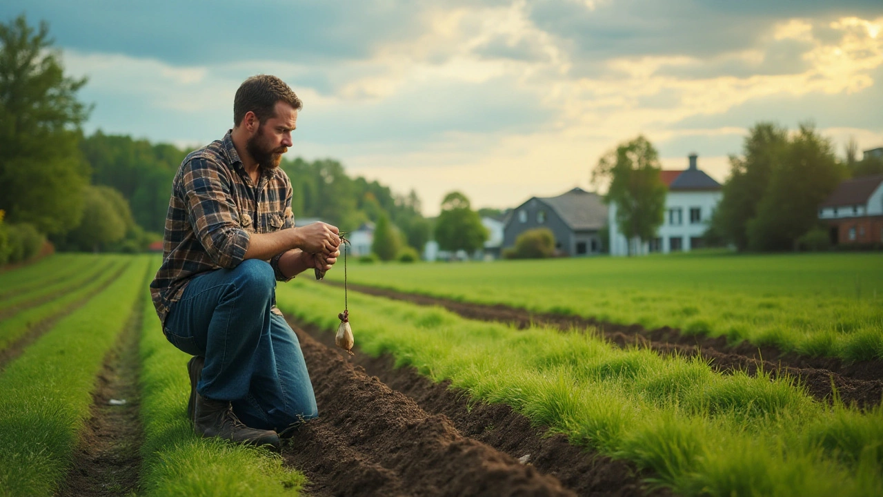
[[298, 338], [275, 307], [275, 281], [328, 271], [340, 255], [335, 226], [294, 226], [279, 168], [302, 105], [275, 76], [245, 80], [233, 129], [172, 180], [150, 292], [166, 338], [194, 356], [187, 415], [203, 437], [278, 449], [278, 432], [318, 416]]

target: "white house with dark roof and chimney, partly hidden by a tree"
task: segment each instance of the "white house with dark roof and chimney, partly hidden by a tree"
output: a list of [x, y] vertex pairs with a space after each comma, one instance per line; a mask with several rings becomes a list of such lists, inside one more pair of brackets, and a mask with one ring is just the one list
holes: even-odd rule
[[[657, 236], [649, 242], [631, 241], [632, 254], [690, 251], [702, 247], [702, 235], [713, 211], [721, 202], [721, 184], [698, 168], [696, 154], [688, 156], [690, 167], [683, 171], [661, 171], [660, 179], [668, 187], [665, 218]], [[610, 205], [610, 255], [628, 256], [629, 241], [616, 225], [616, 206]]]

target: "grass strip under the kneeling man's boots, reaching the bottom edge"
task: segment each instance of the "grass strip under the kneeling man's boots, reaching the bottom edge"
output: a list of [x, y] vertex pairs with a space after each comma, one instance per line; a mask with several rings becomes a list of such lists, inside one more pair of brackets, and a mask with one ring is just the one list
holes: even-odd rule
[[185, 415], [190, 356], [162, 336], [150, 294], [141, 336], [141, 489], [147, 495], [298, 495], [306, 477], [266, 449], [201, 439]]

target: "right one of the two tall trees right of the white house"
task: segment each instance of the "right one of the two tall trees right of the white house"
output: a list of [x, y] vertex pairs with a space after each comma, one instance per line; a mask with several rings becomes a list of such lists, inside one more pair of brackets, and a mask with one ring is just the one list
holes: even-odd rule
[[748, 222], [751, 250], [789, 250], [798, 237], [819, 224], [819, 203], [847, 178], [834, 145], [804, 124], [781, 154], [769, 186]]

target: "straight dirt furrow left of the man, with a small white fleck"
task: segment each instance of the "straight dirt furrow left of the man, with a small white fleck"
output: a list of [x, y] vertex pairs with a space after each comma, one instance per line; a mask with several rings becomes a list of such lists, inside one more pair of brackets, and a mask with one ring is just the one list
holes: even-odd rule
[[144, 300], [138, 299], [117, 344], [104, 359], [92, 394], [91, 416], [79, 436], [61, 497], [133, 494], [138, 489], [143, 432], [139, 417], [139, 331]]

